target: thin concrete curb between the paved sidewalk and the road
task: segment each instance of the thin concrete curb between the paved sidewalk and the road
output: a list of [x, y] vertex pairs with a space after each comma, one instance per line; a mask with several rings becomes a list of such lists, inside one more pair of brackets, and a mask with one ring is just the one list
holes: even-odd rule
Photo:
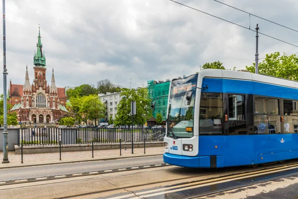
[[33, 167], [33, 166], [55, 165], [55, 164], [68, 164], [68, 163], [77, 163], [77, 162], [92, 162], [92, 161], [104, 161], [104, 160], [117, 160], [117, 159], [140, 158], [140, 157], [159, 156], [159, 155], [163, 155], [163, 153], [150, 154], [150, 155], [138, 155], [138, 156], [119, 156], [119, 157], [112, 157], [112, 158], [97, 158], [97, 159], [91, 159], [91, 160], [76, 160], [76, 161], [66, 161], [66, 162], [52, 162], [52, 163], [41, 163], [41, 164], [15, 165], [15, 166], [0, 167], [0, 170], [1, 169], [9, 169], [9, 168], [18, 168], [18, 167]]

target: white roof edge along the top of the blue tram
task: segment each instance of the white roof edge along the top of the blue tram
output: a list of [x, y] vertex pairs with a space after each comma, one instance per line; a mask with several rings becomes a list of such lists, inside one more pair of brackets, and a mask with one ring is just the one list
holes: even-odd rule
[[266, 84], [298, 89], [298, 82], [293, 80], [277, 78], [274, 76], [268, 76], [268, 75], [262, 75], [262, 74], [255, 74], [250, 72], [243, 72], [243, 71], [204, 69], [200, 71], [199, 78], [204, 78], [204, 77], [254, 81], [254, 82], [261, 82]]

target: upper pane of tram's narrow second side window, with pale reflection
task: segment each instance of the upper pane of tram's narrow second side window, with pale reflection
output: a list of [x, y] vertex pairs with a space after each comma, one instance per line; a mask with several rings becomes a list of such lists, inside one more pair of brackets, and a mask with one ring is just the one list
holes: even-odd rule
[[245, 120], [244, 96], [228, 95], [228, 119]]

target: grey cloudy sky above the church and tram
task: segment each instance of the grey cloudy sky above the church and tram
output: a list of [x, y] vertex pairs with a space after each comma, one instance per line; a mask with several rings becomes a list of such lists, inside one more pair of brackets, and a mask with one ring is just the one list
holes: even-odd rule
[[[214, 0], [178, 1], [249, 27], [248, 14]], [[298, 29], [297, 0], [222, 2]], [[47, 80], [54, 68], [59, 87], [96, 85], [105, 78], [130, 87], [132, 78], [136, 88], [152, 79], [191, 75], [206, 62], [221, 61], [227, 69], [254, 62], [255, 32], [170, 0], [6, 0], [5, 7], [7, 83], [24, 84], [26, 65], [32, 82], [38, 24]], [[256, 23], [260, 32], [298, 45], [298, 32], [251, 16], [251, 28]], [[298, 52], [263, 35], [259, 40], [260, 58]], [[0, 93], [2, 87], [1, 78]]]

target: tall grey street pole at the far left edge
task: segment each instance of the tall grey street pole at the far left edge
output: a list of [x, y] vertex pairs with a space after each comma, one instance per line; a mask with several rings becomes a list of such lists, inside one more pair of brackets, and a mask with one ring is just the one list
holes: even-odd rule
[[7, 132], [7, 96], [6, 96], [6, 42], [5, 42], [5, 0], [2, 0], [3, 13], [3, 161], [9, 163], [8, 160], [8, 132]]

